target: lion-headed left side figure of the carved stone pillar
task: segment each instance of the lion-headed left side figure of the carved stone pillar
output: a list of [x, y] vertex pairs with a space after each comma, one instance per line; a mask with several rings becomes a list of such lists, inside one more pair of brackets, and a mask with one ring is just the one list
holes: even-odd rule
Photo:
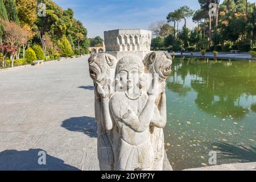
[[[111, 90], [113, 85], [110, 83], [114, 80], [117, 60], [112, 55], [97, 53], [91, 56], [88, 61], [90, 77], [94, 82], [94, 110], [98, 126], [98, 160], [101, 170], [111, 171], [114, 167], [114, 154], [109, 137], [111, 135], [110, 129], [113, 126], [109, 115], [108, 96], [114, 91]], [[102, 91], [104, 89], [105, 91]]]

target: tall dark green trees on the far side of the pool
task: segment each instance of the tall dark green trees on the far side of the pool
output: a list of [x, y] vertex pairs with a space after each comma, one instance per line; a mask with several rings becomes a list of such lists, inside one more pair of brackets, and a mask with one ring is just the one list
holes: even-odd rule
[[[188, 6], [182, 6], [167, 15], [168, 23], [174, 23], [174, 45], [181, 43], [187, 50], [207, 49], [207, 51], [225, 51], [240, 49], [249, 51], [256, 46], [256, 8], [249, 0], [198, 0], [200, 9], [193, 11]], [[216, 3], [217, 16], [209, 16], [209, 3]], [[185, 24], [179, 30], [179, 22], [192, 16], [197, 23], [195, 29], [189, 30]], [[231, 42], [229, 48], [226, 42]], [[167, 46], [166, 44], [165, 46]], [[176, 46], [175, 46], [176, 47]]]

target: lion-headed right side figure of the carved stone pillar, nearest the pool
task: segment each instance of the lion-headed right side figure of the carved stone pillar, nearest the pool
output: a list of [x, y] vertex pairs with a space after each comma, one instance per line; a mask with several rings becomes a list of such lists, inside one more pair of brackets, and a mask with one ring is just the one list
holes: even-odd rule
[[164, 135], [166, 126], [166, 79], [171, 75], [172, 57], [166, 52], [149, 53], [143, 60], [146, 72], [159, 79], [160, 93], [156, 97], [155, 104], [159, 109], [162, 121], [150, 126], [152, 144], [155, 151], [154, 170], [163, 168], [164, 160]]

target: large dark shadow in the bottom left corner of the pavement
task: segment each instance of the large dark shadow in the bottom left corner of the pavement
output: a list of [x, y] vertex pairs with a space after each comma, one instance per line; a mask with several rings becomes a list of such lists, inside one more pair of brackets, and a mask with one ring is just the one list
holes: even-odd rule
[[51, 155], [46, 155], [46, 165], [40, 165], [42, 149], [30, 149], [28, 151], [6, 150], [0, 152], [0, 171], [80, 171], [79, 168], [64, 164], [64, 161]]

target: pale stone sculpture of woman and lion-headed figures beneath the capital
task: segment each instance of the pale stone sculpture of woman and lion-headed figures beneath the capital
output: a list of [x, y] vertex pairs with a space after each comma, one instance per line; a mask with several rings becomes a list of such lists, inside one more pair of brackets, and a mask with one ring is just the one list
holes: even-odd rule
[[[129, 37], [134, 30], [120, 32]], [[101, 170], [163, 170], [163, 127], [167, 122], [164, 90], [172, 58], [162, 51], [143, 54], [146, 56], [127, 51], [117, 59], [108, 52], [89, 58]]]

